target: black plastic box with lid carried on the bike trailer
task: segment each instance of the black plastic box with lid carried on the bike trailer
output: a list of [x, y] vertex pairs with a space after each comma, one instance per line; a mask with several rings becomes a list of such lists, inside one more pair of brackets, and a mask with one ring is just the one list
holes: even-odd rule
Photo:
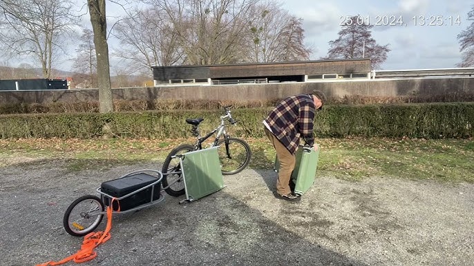
[[[154, 183], [157, 180], [158, 179], [155, 176], [151, 176], [149, 174], [133, 174], [131, 176], [106, 181], [100, 185], [100, 190], [110, 196], [120, 198], [122, 196], [125, 196], [126, 194], [130, 194], [131, 192], [135, 192], [136, 190], [139, 190], [140, 188], [146, 185], [150, 185], [151, 183]], [[126, 211], [127, 209], [137, 207], [138, 205], [150, 203], [152, 187], [154, 187], [153, 201], [160, 198], [161, 183], [158, 182], [155, 185], [146, 188], [145, 190], [142, 190], [119, 201], [120, 211]], [[104, 196], [104, 204], [106, 206], [109, 205], [110, 201], [111, 198]], [[118, 210], [118, 203], [116, 201], [114, 201], [113, 203], [113, 210]]]

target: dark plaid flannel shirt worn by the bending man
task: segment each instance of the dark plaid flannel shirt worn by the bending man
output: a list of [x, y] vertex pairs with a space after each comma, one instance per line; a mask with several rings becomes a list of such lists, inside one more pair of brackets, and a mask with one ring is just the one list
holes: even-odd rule
[[313, 125], [316, 105], [310, 94], [290, 96], [276, 105], [265, 122], [287, 149], [294, 154], [300, 139], [314, 145]]

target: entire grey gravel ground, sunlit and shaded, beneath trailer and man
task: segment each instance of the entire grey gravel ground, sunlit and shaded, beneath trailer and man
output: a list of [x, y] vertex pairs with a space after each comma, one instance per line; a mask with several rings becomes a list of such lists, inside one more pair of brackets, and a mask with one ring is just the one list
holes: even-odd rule
[[[71, 172], [65, 161], [15, 160], [0, 168], [0, 265], [75, 253], [82, 238], [62, 227], [68, 205], [104, 181], [160, 168]], [[316, 176], [301, 202], [289, 203], [274, 198], [275, 178], [245, 170], [193, 203], [165, 196], [117, 215], [111, 239], [82, 265], [474, 265], [473, 184]]]

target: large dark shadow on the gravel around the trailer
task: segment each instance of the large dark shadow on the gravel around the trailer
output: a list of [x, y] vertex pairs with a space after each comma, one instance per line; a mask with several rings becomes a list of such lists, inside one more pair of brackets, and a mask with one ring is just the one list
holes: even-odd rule
[[[21, 176], [15, 172], [26, 165], [0, 168], [1, 195], [9, 198], [0, 203], [0, 212], [9, 214], [0, 222], [5, 265], [35, 265], [77, 251], [82, 238], [61, 225], [66, 207], [86, 191], [94, 194], [102, 181], [136, 170], [70, 172], [68, 163], [58, 162], [29, 163]], [[225, 190], [179, 205], [182, 199], [166, 196], [148, 209], [115, 216], [111, 240], [83, 265], [363, 265], [306, 241]], [[98, 229], [104, 226], [105, 219]]]

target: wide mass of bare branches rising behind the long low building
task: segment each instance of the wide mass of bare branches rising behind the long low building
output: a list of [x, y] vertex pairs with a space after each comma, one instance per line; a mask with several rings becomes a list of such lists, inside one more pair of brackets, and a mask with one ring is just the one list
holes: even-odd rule
[[[262, 1], [149, 0], [151, 6], [145, 11], [153, 10], [155, 20], [160, 21], [160, 25], [166, 25], [166, 30], [162, 30], [162, 26], [155, 23], [160, 28], [159, 34], [162, 37], [164, 34], [173, 37], [173, 48], [183, 54], [180, 59], [185, 64], [308, 59], [311, 50], [303, 44], [301, 19], [290, 16], [274, 1], [265, 4], [260, 2]], [[145, 11], [143, 15], [148, 14]], [[144, 28], [142, 22], [144, 21], [133, 20], [133, 23], [140, 23], [140, 29]], [[132, 27], [127, 25], [126, 28]], [[138, 42], [144, 39], [125, 40], [126, 37], [118, 35], [122, 44], [129, 45], [128, 48], [134, 47], [143, 54], [143, 48], [139, 47], [143, 43], [138, 45]], [[131, 36], [132, 33], [128, 32], [127, 35]], [[160, 52], [171, 51], [166, 50], [166, 43], [160, 44]], [[167, 64], [164, 60], [155, 61], [158, 65]]]

